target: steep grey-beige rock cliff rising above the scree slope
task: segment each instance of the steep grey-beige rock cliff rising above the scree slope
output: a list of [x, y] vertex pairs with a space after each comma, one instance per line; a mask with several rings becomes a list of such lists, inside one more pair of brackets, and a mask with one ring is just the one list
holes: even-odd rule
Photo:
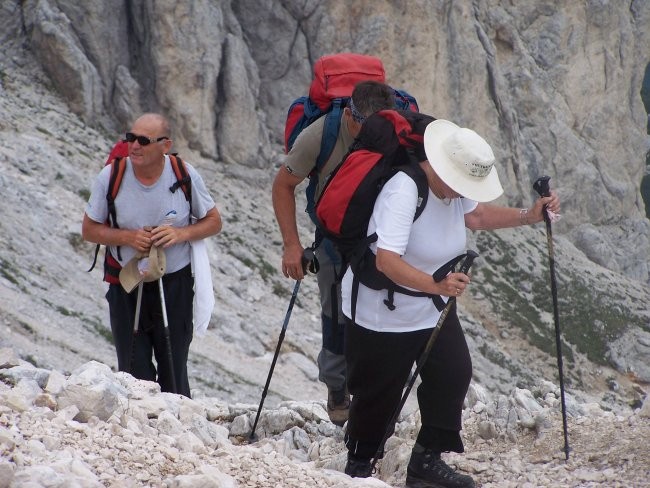
[[486, 136], [510, 203], [551, 175], [565, 202], [558, 227], [594, 262], [648, 280], [642, 0], [4, 3], [84, 121], [121, 131], [161, 110], [181, 146], [247, 166], [277, 151], [318, 56], [380, 56], [423, 110]]

